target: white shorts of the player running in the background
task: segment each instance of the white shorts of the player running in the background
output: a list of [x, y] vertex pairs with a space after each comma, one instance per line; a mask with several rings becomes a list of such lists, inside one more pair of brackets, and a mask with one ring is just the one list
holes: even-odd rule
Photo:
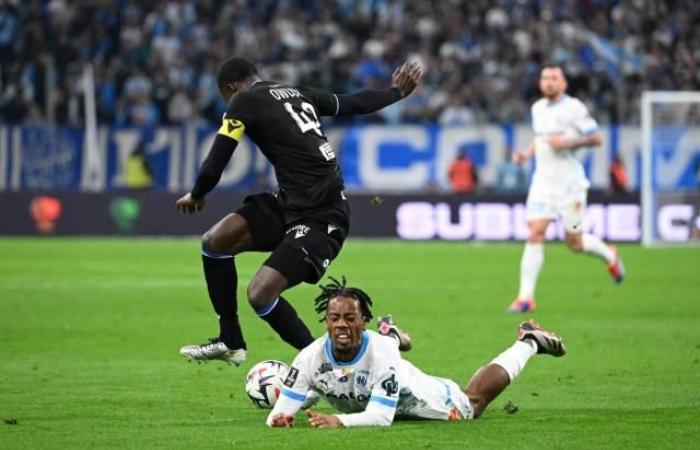
[[586, 212], [587, 189], [543, 188], [534, 184], [530, 187], [525, 206], [525, 219], [561, 219], [568, 233], [583, 232], [583, 218]]

